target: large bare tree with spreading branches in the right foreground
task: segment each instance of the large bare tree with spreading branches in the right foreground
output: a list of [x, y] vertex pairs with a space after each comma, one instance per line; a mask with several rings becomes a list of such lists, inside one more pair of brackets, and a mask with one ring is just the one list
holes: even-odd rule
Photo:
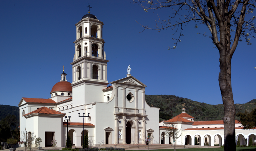
[[142, 25], [144, 30], [151, 29], [158, 32], [170, 27], [174, 31], [173, 35], [178, 34], [173, 38], [175, 45], [172, 49], [181, 42], [180, 39], [184, 36], [182, 28], [189, 22], [193, 22], [195, 28], [198, 24], [205, 24], [208, 27], [209, 35], [206, 32], [197, 34], [211, 38], [214, 48], [219, 51], [218, 80], [224, 104], [224, 149], [235, 151], [236, 109], [231, 87], [231, 59], [242, 38], [245, 38], [245, 42], [249, 45], [252, 44], [249, 37], [255, 38], [256, 17], [251, 14], [256, 8], [255, 0], [138, 0], [138, 2], [133, 0], [133, 3], [138, 3], [145, 12], [150, 10], [155, 12], [163, 8], [169, 8], [172, 11], [172, 15], [167, 19], [162, 20], [158, 16], [159, 21], [156, 21], [153, 28]]

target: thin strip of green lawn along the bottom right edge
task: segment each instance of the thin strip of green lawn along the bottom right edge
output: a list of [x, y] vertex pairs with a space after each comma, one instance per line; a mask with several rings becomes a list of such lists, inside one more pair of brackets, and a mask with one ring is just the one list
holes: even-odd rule
[[[237, 147], [237, 151], [256, 151], [255, 147]], [[60, 150], [51, 150], [60, 151]], [[147, 151], [147, 150], [134, 150], [134, 151]], [[149, 151], [173, 151], [173, 149], [155, 149]], [[176, 151], [224, 151], [224, 148], [187, 148], [187, 149], [176, 149]]]

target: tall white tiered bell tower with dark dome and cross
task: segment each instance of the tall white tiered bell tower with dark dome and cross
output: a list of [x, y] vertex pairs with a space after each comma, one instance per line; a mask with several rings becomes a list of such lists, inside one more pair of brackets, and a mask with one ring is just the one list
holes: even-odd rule
[[[86, 93], [90, 90], [94, 90], [90, 95], [95, 93], [94, 100], [97, 97], [100, 99], [99, 94], [102, 93], [103, 97], [102, 89], [109, 84], [107, 80], [107, 62], [109, 60], [106, 60], [105, 41], [102, 39], [103, 22], [95, 15], [90, 14], [89, 11], [75, 26], [76, 40], [73, 42], [75, 53], [73, 62], [70, 63], [72, 64], [71, 86], [73, 94], [76, 93], [75, 89], [79, 87], [80, 92], [84, 89], [84, 95], [87, 95]], [[73, 99], [75, 99], [74, 97]], [[91, 102], [90, 100], [89, 103]]]

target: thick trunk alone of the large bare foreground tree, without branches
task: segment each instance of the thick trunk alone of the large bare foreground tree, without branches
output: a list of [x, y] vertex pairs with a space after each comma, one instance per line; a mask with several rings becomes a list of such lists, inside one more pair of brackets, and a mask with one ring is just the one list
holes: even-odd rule
[[[222, 34], [221, 34], [221, 37], [222, 37]], [[218, 80], [219, 80], [219, 88], [221, 89], [222, 101], [224, 105], [224, 143], [225, 143], [224, 150], [236, 151], [236, 133], [235, 133], [236, 108], [234, 106], [233, 93], [232, 93], [232, 87], [231, 87], [232, 55], [230, 55], [229, 51], [227, 51], [227, 49], [229, 48], [227, 48], [226, 42], [224, 40], [222, 41], [222, 46], [223, 47], [219, 49], [219, 55], [220, 55], [219, 68], [221, 69], [221, 72], [219, 73]]]

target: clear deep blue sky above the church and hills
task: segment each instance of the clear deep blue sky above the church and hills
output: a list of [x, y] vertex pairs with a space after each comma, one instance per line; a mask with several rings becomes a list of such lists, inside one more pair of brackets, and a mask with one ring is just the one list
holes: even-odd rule
[[[75, 24], [87, 14], [104, 23], [104, 51], [108, 63], [108, 81], [131, 75], [143, 82], [145, 94], [167, 94], [209, 104], [222, 103], [219, 90], [219, 53], [212, 40], [197, 35], [209, 30], [194, 23], [184, 27], [181, 42], [173, 47], [171, 29], [158, 33], [153, 27], [157, 14], [162, 19], [171, 9], [143, 11], [132, 1], [0, 1], [0, 104], [17, 106], [22, 97], [49, 98], [60, 81], [64, 65], [67, 80], [74, 54]], [[255, 15], [254, 15], [255, 16]], [[243, 40], [245, 41], [245, 40]], [[235, 103], [255, 99], [255, 44], [240, 42], [232, 58], [232, 90]]]

